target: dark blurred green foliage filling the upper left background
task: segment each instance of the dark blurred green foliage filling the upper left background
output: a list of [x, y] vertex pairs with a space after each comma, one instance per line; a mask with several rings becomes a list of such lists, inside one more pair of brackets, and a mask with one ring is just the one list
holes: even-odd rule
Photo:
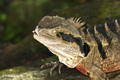
[[[16, 43], [26, 37], [38, 21], [53, 10], [68, 8], [67, 0], [2, 0], [0, 1], [0, 44]], [[2, 35], [1, 35], [2, 34]]]

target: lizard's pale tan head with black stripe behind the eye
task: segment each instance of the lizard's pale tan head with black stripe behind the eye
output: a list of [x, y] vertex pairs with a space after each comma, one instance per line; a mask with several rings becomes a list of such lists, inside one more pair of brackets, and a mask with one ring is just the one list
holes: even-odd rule
[[70, 68], [74, 68], [84, 57], [82, 37], [75, 25], [65, 18], [43, 17], [33, 31], [33, 37]]

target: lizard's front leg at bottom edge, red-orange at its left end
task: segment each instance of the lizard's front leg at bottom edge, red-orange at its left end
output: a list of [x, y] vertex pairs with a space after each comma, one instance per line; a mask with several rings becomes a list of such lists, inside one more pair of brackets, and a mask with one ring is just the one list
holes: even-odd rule
[[79, 70], [81, 73], [88, 75], [91, 80], [109, 80], [106, 74], [97, 66], [95, 65], [85, 65], [80, 64], [76, 66], [76, 69]]

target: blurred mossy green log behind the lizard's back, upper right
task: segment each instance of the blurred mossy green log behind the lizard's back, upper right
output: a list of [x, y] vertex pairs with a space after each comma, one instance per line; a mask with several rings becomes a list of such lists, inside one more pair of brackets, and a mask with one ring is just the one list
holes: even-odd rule
[[[93, 6], [94, 5], [94, 6]], [[114, 6], [111, 6], [114, 5]], [[53, 11], [53, 15], [57, 14], [65, 18], [81, 17], [83, 21], [90, 26], [102, 24], [105, 21], [120, 18], [120, 1], [113, 2], [92, 2], [81, 4], [71, 9], [61, 9]]]

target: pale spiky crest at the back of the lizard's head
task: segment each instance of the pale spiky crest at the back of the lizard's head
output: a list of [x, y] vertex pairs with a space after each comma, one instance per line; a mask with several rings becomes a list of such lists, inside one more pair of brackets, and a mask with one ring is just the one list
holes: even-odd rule
[[83, 30], [82, 26], [85, 24], [85, 22], [83, 22], [80, 18], [71, 17], [67, 20], [73, 23], [77, 29], [80, 29], [81, 31]]

